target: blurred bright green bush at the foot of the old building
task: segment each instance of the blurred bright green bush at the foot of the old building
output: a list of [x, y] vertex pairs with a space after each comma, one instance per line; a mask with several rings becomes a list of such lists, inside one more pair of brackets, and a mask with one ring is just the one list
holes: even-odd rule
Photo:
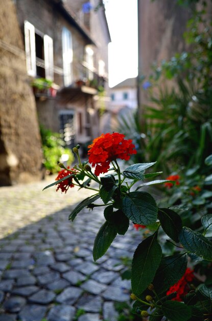
[[43, 126], [40, 126], [40, 134], [42, 139], [43, 165], [49, 173], [60, 171], [58, 163], [61, 162], [61, 157], [64, 154], [67, 157], [67, 166], [73, 163], [74, 155], [69, 148], [65, 147], [61, 134], [54, 133]]

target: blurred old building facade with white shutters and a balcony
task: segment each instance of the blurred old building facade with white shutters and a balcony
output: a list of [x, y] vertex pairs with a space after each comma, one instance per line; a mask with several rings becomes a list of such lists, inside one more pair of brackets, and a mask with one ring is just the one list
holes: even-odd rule
[[39, 122], [61, 132], [70, 148], [99, 134], [98, 93], [106, 88], [110, 35], [104, 7], [95, 11], [98, 3], [15, 1]]

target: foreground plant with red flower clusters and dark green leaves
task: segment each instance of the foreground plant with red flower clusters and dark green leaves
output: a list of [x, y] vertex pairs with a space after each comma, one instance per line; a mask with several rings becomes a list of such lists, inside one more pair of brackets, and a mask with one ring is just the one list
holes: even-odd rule
[[[70, 213], [72, 221], [84, 208], [105, 207], [105, 222], [93, 245], [93, 259], [96, 261], [107, 252], [117, 234], [125, 235], [130, 221], [147, 227], [149, 234], [138, 244], [132, 259], [133, 311], [142, 317], [149, 316], [150, 320], [161, 320], [165, 316], [170, 321], [209, 321], [212, 317], [211, 277], [204, 283], [191, 268], [193, 263], [193, 266], [205, 265], [208, 273], [211, 267], [212, 243], [207, 231], [211, 228], [212, 214], [202, 216], [202, 226], [196, 231], [183, 224], [176, 212], [177, 206], [160, 207], [146, 188], [175, 184], [176, 179], [143, 183], [146, 178], [157, 175], [157, 172], [146, 172], [155, 162], [133, 164], [121, 171], [117, 158], [128, 160], [135, 154], [134, 145], [122, 134], [102, 135], [89, 146], [89, 162], [95, 167], [94, 173], [87, 162], [81, 162], [78, 149], [79, 146], [73, 151], [79, 164], [73, 169], [61, 165], [65, 177], [44, 189], [58, 185], [64, 191], [68, 184], [70, 188], [78, 186], [93, 191], [92, 196], [82, 200]], [[211, 156], [207, 157], [207, 163], [210, 162]], [[101, 173], [106, 175], [100, 176]], [[91, 186], [94, 182], [96, 185]], [[138, 182], [142, 183], [138, 185]], [[161, 235], [172, 243], [171, 255], [164, 250]]]

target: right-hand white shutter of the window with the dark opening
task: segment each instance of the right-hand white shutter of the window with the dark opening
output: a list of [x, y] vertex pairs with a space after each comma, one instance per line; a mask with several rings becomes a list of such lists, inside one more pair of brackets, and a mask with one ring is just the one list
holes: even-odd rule
[[44, 62], [45, 62], [45, 78], [54, 80], [54, 56], [53, 56], [53, 40], [47, 34], [43, 37], [44, 43]]

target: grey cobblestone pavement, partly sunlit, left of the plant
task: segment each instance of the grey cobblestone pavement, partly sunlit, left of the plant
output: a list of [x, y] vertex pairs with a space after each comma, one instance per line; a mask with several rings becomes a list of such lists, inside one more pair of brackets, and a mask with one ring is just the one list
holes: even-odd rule
[[94, 263], [103, 210], [84, 209], [69, 222], [92, 191], [42, 191], [53, 179], [0, 188], [0, 321], [115, 321], [114, 302], [129, 302], [130, 293], [121, 257], [132, 255], [139, 233], [117, 236]]

